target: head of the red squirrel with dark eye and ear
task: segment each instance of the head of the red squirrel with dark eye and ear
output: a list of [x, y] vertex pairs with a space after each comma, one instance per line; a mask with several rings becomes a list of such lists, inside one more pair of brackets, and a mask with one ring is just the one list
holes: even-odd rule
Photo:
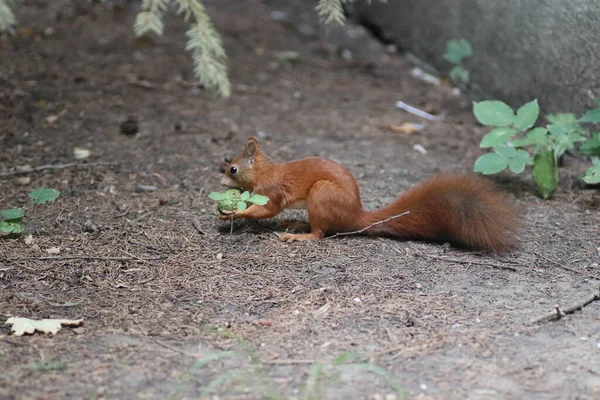
[[254, 174], [256, 161], [261, 157], [262, 152], [258, 140], [254, 137], [249, 138], [246, 141], [244, 151], [235, 156], [225, 169], [225, 174], [221, 178], [221, 185], [252, 191], [256, 183]]

